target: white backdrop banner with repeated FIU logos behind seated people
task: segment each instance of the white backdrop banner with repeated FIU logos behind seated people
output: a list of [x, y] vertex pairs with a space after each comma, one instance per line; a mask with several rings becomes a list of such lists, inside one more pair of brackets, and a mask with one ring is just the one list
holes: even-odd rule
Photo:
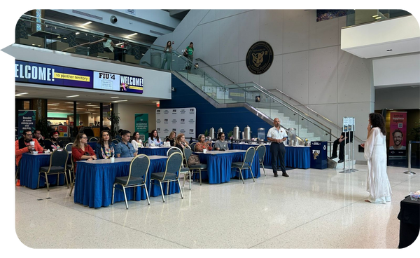
[[159, 137], [165, 140], [165, 137], [172, 131], [176, 135], [183, 133], [186, 138], [195, 138], [195, 107], [186, 107], [182, 109], [156, 109], [156, 130]]

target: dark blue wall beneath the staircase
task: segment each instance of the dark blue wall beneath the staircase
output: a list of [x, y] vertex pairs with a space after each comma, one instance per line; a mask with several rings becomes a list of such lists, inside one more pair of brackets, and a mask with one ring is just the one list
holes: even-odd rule
[[174, 74], [172, 74], [172, 87], [176, 89], [176, 91], [172, 91], [172, 100], [160, 100], [160, 108], [195, 107], [197, 109], [197, 135], [195, 137], [200, 133], [204, 133], [205, 130], [210, 130], [211, 127], [214, 128], [216, 133], [218, 128], [223, 128], [223, 132], [228, 134], [236, 125], [239, 126], [240, 131], [243, 131], [246, 125], [248, 125], [251, 128], [251, 137], [256, 138], [258, 128], [265, 128], [265, 134], [267, 135], [269, 128], [273, 126], [258, 116], [255, 116], [255, 114], [244, 107], [216, 109], [216, 107], [195, 93], [194, 90], [174, 76]]

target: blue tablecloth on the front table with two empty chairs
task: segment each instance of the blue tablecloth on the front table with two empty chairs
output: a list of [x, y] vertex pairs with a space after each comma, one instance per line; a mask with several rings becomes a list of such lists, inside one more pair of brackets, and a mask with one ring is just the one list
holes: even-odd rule
[[[151, 173], [165, 171], [166, 156], [149, 156], [151, 165], [148, 171], [147, 188], [149, 196], [160, 196], [160, 186], [150, 184]], [[91, 208], [107, 207], [111, 204], [113, 182], [116, 177], [128, 175], [132, 158], [116, 158], [115, 163], [108, 160], [78, 161], [76, 183], [74, 185], [74, 202], [88, 205]], [[167, 184], [162, 184], [164, 194], [167, 194]], [[136, 196], [134, 189], [125, 189], [128, 200], [146, 200], [144, 188], [137, 187]], [[176, 182], [169, 183], [169, 194], [179, 193]], [[123, 191], [116, 189], [114, 203], [124, 201]]]

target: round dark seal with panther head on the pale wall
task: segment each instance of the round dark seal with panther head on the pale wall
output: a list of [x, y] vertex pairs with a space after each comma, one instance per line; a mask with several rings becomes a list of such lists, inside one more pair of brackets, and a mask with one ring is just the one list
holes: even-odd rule
[[253, 74], [263, 74], [271, 67], [273, 57], [273, 49], [269, 43], [258, 41], [246, 53], [246, 67]]

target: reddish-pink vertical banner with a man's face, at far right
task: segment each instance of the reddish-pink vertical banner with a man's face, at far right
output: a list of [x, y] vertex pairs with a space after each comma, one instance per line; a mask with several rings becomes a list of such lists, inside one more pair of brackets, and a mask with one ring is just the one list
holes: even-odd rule
[[407, 133], [407, 112], [391, 111], [389, 123], [389, 155], [405, 156]]

